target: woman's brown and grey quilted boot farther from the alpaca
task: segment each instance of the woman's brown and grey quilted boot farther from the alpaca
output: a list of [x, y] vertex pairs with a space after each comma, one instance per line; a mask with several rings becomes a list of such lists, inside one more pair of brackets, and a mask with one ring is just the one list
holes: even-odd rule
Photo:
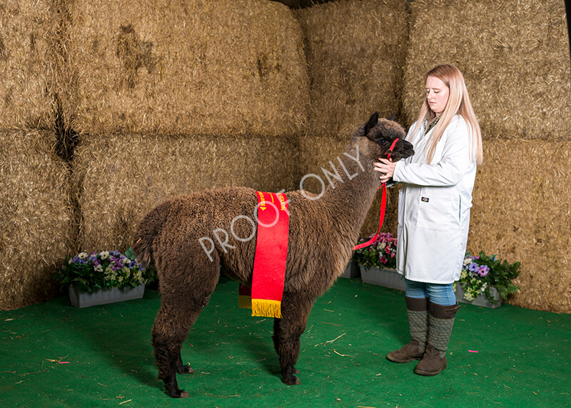
[[429, 302], [428, 345], [423, 359], [418, 362], [415, 373], [420, 375], [436, 375], [448, 366], [446, 350], [450, 334], [454, 326], [454, 317], [460, 306], [450, 306]]

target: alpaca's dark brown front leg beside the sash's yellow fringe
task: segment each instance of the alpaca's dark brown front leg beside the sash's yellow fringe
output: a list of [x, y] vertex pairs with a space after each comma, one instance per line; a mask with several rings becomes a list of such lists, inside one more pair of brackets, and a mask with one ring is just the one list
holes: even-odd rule
[[[274, 345], [280, 357], [282, 381], [288, 385], [300, 384], [298, 370], [295, 363], [298, 362], [300, 351], [300, 337], [305, 332], [309, 312], [313, 306], [300, 296], [284, 294], [282, 300], [282, 318], [274, 322]], [[277, 330], [276, 330], [277, 327]]]

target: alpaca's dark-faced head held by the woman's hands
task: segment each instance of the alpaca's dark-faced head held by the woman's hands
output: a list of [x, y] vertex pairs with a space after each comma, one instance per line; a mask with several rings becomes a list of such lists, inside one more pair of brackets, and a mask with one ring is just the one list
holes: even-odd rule
[[395, 139], [399, 139], [391, 155], [392, 161], [399, 161], [415, 154], [413, 144], [406, 141], [406, 133], [403, 126], [387, 119], [379, 119], [379, 113], [372, 114], [368, 121], [359, 127], [353, 135], [358, 138], [360, 150], [377, 160], [383, 157]]

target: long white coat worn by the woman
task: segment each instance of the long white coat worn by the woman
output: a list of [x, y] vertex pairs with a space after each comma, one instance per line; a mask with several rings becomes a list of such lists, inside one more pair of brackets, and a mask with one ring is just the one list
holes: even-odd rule
[[460, 279], [470, 224], [476, 176], [475, 152], [468, 127], [456, 115], [426, 164], [430, 134], [422, 126], [407, 140], [415, 154], [397, 162], [394, 181], [403, 183], [398, 196], [397, 271], [418, 282], [450, 284]]

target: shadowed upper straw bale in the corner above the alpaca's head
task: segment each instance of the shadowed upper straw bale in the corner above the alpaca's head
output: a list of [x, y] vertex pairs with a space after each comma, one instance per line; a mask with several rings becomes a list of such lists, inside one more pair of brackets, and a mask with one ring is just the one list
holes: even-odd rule
[[296, 15], [309, 65], [309, 134], [345, 140], [362, 116], [400, 114], [406, 1], [335, 1]]

